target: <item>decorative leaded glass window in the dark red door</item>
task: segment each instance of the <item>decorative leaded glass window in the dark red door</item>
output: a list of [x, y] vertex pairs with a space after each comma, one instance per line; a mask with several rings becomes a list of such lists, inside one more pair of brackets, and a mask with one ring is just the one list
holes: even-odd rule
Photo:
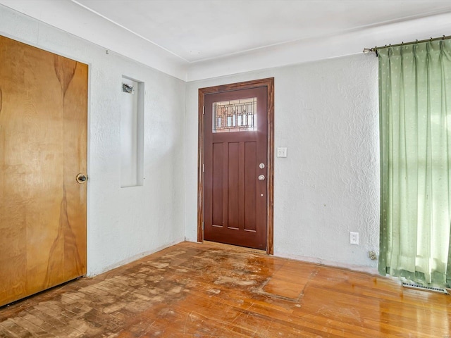
[[213, 132], [257, 131], [257, 97], [213, 104]]

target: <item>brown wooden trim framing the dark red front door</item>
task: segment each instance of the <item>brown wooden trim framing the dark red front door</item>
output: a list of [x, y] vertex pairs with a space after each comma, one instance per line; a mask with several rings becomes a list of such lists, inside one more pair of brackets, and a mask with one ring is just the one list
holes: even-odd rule
[[238, 82], [233, 84], [222, 84], [220, 86], [199, 88], [199, 115], [198, 115], [198, 142], [197, 149], [197, 242], [204, 242], [204, 231], [202, 227], [204, 218], [204, 96], [233, 90], [266, 87], [268, 96], [268, 173], [267, 190], [267, 228], [266, 228], [266, 253], [274, 253], [274, 78]]

